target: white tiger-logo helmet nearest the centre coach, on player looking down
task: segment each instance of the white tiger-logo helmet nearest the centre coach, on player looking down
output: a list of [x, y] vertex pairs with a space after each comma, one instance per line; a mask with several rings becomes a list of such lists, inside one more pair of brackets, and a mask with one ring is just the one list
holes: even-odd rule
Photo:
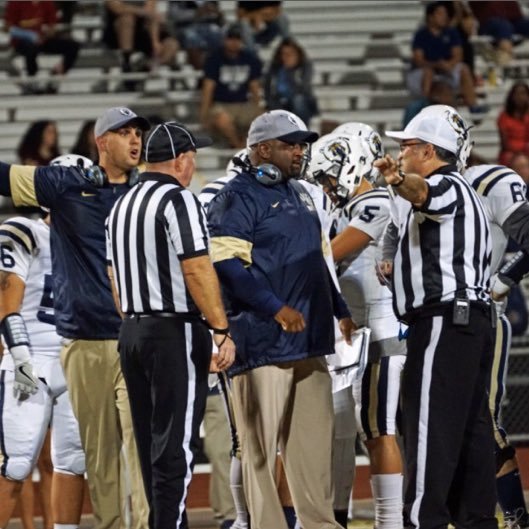
[[371, 164], [365, 142], [344, 134], [327, 134], [312, 145], [309, 173], [339, 206], [356, 193]]

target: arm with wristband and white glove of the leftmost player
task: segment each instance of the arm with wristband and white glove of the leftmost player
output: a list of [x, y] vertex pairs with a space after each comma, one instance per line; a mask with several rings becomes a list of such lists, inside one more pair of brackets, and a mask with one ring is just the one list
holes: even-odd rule
[[14, 388], [20, 393], [34, 394], [38, 379], [31, 364], [30, 341], [26, 325], [18, 313], [26, 285], [11, 272], [0, 271], [0, 329], [15, 364]]

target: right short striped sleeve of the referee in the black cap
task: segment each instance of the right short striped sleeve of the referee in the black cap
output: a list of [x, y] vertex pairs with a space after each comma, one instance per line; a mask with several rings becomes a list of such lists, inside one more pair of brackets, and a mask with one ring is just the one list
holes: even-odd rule
[[172, 194], [164, 210], [169, 236], [180, 260], [208, 253], [204, 210], [190, 191]]

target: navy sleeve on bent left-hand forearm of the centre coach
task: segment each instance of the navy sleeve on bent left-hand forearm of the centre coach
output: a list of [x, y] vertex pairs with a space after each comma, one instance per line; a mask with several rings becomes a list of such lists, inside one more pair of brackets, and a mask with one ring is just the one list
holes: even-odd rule
[[215, 263], [215, 270], [228, 293], [252, 310], [265, 316], [275, 316], [285, 305], [273, 292], [263, 288], [237, 258]]

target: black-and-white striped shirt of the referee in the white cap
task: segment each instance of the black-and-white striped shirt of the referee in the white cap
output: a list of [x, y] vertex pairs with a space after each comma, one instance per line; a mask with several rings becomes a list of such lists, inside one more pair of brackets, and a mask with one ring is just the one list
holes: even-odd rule
[[489, 300], [492, 243], [483, 205], [452, 165], [426, 181], [428, 198], [420, 208], [398, 195], [392, 201], [399, 233], [393, 304], [399, 317], [457, 296]]

